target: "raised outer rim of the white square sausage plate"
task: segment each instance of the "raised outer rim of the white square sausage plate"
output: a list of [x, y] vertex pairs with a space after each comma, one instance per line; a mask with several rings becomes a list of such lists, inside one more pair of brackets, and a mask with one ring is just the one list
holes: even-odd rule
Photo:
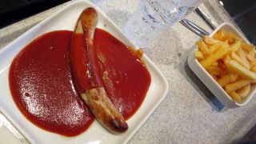
[[[67, 8], [69, 8], [70, 6], [73, 6], [73, 5], [76, 5], [78, 4], [79, 2], [85, 2], [87, 5], [90, 5], [90, 6], [94, 6], [97, 8], [97, 10], [102, 14], [102, 16], [104, 18], [107, 19], [108, 22], [110, 22], [116, 30], [118, 30], [118, 33], [122, 34], [123, 36], [125, 36], [122, 32], [122, 30], [104, 13], [102, 12], [102, 10], [100, 10], [97, 6], [95, 6], [93, 3], [91, 2], [87, 2], [87, 1], [84, 1], [84, 0], [75, 0], [73, 2], [70, 2], [69, 4], [67, 4], [66, 6], [63, 6], [60, 10], [57, 10], [56, 12], [54, 12], [54, 14], [51, 14], [50, 17], [48, 18], [45, 18], [43, 19], [41, 22], [38, 22], [38, 24], [36, 24], [35, 26], [32, 26], [30, 28], [30, 30], [27, 30], [25, 33], [23, 33], [22, 35], [18, 36], [18, 38], [15, 38], [14, 41], [10, 42], [9, 44], [7, 44], [6, 46], [4, 46], [2, 48], [2, 50], [0, 50], [0, 55], [2, 54], [5, 54], [7, 52], [7, 50], [11, 50], [11, 47], [13, 47], [13, 45], [15, 43], [17, 43], [18, 41], [20, 41], [20, 39], [22, 38], [26, 38], [27, 35], [29, 35], [31, 32], [33, 32], [34, 30], [36, 30], [38, 27], [40, 26], [44, 26], [47, 22], [50, 22], [54, 17], [56, 17], [56, 15], [58, 14], [62, 14], [63, 11], [65, 11]], [[47, 33], [47, 32], [46, 32]], [[125, 36], [126, 37], [126, 36]], [[126, 38], [127, 41], [130, 42], [130, 39], [129, 38]], [[33, 41], [33, 39], [31, 39]], [[29, 42], [28, 42], [29, 43]], [[28, 44], [26, 43], [26, 45]], [[132, 45], [133, 45], [133, 48], [135, 50], [138, 50], [138, 47], [134, 45], [133, 42], [130, 42]], [[15, 56], [14, 56], [15, 57]], [[138, 131], [138, 129], [141, 128], [141, 126], [148, 120], [148, 118], [150, 117], [151, 114], [154, 113], [154, 110], [156, 110], [156, 108], [159, 106], [159, 104], [162, 102], [162, 100], [164, 98], [166, 98], [166, 95], [167, 95], [167, 92], [169, 90], [169, 84], [165, 78], [165, 76], [162, 74], [162, 72], [158, 69], [157, 66], [155, 66], [155, 64], [150, 60], [150, 58], [148, 58], [146, 56], [145, 53], [143, 53], [142, 55], [142, 59], [145, 58], [145, 61], [148, 62], [156, 71], [156, 73], [158, 74], [158, 77], [161, 78], [161, 81], [162, 81], [162, 97], [158, 100], [158, 102], [156, 102], [154, 104], [154, 107], [149, 111], [148, 114], [146, 114], [146, 117], [142, 119], [141, 122], [138, 123], [137, 126], [135, 126], [134, 130], [129, 134], [129, 136], [127, 136], [125, 138], [125, 141], [123, 143], [126, 143], [130, 140], [130, 138], [132, 138], [134, 136], [134, 134]], [[144, 60], [142, 60], [144, 61]], [[9, 67], [10, 64], [7, 66]], [[2, 73], [2, 69], [0, 69], [0, 74]], [[150, 84], [151, 85], [151, 84]], [[160, 95], [160, 94], [159, 94]], [[143, 102], [142, 102], [143, 103]], [[140, 108], [139, 108], [140, 109]], [[34, 138], [31, 138], [29, 134], [26, 133], [25, 130], [23, 130], [19, 124], [17, 122], [14, 121], [14, 119], [12, 118], [12, 116], [10, 116], [10, 114], [8, 114], [6, 112], [6, 110], [4, 110], [4, 108], [2, 107], [2, 105], [0, 105], [0, 111], [1, 113], [8, 119], [8, 121], [10, 121], [10, 123], [20, 132], [20, 134], [22, 134], [24, 136], [24, 138], [26, 138], [29, 142], [31, 143], [37, 143], [34, 141]], [[136, 114], [136, 113], [135, 113]]]

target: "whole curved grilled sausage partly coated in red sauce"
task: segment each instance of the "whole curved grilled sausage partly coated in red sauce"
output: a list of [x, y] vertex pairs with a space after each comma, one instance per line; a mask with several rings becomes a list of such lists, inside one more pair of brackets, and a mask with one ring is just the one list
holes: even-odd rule
[[[128, 130], [128, 125], [107, 96], [98, 73], [94, 49], [94, 30], [97, 20], [98, 14], [94, 8], [90, 7], [82, 11], [70, 47], [71, 69], [82, 98], [98, 122], [115, 134], [123, 133]], [[85, 42], [83, 45], [76, 42], [75, 34], [83, 35]], [[80, 50], [84, 54], [80, 54], [79, 51], [76, 53], [76, 50]], [[79, 56], [75, 54], [79, 54]], [[87, 81], [82, 81], [82, 79]], [[82, 83], [88, 81], [88, 84]]]

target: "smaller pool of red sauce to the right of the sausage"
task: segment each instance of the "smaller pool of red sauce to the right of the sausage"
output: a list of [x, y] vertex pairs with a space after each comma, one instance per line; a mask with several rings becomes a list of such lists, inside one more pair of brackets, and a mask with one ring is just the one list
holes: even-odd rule
[[95, 30], [94, 46], [106, 93], [128, 119], [146, 96], [150, 73], [137, 54], [104, 30]]

